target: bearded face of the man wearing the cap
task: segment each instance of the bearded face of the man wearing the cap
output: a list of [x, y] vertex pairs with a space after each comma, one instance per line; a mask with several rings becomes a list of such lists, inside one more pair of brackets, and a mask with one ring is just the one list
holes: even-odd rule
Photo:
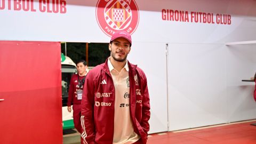
[[114, 60], [119, 62], [126, 61], [127, 55], [131, 50], [130, 42], [123, 37], [116, 38], [112, 44], [109, 44], [109, 50]]

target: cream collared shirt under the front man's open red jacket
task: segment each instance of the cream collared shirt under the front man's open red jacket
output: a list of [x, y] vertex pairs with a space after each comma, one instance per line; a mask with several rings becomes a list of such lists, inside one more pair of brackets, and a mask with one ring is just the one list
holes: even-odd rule
[[140, 135], [134, 132], [130, 116], [129, 67], [126, 61], [120, 73], [108, 59], [108, 68], [115, 86], [114, 144], [130, 144], [138, 141]]

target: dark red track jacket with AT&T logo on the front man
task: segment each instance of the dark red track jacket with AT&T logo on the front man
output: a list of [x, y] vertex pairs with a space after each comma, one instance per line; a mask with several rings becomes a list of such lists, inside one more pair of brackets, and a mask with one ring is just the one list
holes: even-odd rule
[[[130, 114], [134, 131], [147, 142], [150, 118], [147, 78], [143, 71], [129, 65]], [[137, 76], [136, 76], [137, 75]], [[138, 78], [137, 78], [138, 77]], [[112, 144], [114, 135], [115, 87], [107, 60], [90, 70], [85, 78], [82, 98], [81, 143]]]

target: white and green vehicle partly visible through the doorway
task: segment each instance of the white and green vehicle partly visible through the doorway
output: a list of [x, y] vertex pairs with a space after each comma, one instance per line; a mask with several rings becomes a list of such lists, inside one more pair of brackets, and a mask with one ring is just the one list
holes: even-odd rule
[[67, 110], [68, 90], [70, 78], [77, 73], [76, 63], [61, 53], [61, 90], [62, 90], [62, 125], [63, 130], [74, 129], [73, 111]]

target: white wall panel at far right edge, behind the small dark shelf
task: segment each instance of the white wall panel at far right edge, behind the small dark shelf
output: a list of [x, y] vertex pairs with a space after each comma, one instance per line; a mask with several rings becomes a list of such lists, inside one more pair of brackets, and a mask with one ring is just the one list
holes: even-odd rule
[[256, 72], [256, 44], [230, 45], [227, 50], [228, 120], [255, 119], [255, 83], [242, 82], [242, 79], [250, 79]]

